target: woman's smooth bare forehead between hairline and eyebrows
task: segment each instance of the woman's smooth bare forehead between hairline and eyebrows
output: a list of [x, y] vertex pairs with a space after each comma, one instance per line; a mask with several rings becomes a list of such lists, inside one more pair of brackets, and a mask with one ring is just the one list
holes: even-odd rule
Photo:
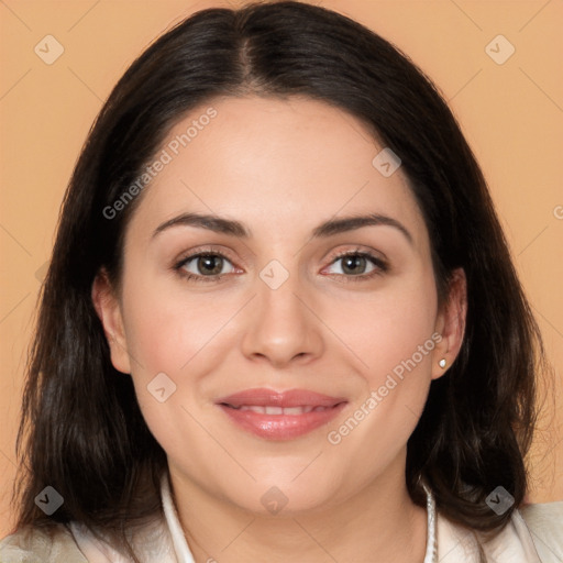
[[154, 158], [166, 164], [132, 223], [147, 231], [179, 212], [212, 212], [257, 236], [368, 211], [408, 222], [422, 243], [422, 217], [401, 168], [385, 176], [374, 164], [384, 148], [363, 122], [321, 101], [218, 98], [172, 128]]

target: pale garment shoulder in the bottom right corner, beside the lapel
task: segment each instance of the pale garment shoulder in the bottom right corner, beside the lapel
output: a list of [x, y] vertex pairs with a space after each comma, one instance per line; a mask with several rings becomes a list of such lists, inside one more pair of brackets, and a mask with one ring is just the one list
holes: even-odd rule
[[519, 514], [540, 560], [545, 563], [563, 561], [563, 501], [525, 505]]

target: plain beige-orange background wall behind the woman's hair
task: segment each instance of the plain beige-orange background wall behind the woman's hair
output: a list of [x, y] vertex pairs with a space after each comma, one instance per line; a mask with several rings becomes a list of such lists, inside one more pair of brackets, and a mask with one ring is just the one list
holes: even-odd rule
[[[529, 498], [563, 499], [563, 3], [317, 3], [362, 21], [411, 56], [450, 101], [483, 166], [555, 368]], [[229, 3], [0, 1], [0, 537], [13, 521], [9, 496], [32, 314], [73, 166], [102, 100], [133, 58], [210, 5]], [[499, 34], [515, 47], [504, 64], [486, 51], [490, 44], [490, 55], [506, 57], [505, 40], [490, 43]], [[46, 35], [64, 48], [52, 65], [34, 52], [37, 44], [47, 49]]]

